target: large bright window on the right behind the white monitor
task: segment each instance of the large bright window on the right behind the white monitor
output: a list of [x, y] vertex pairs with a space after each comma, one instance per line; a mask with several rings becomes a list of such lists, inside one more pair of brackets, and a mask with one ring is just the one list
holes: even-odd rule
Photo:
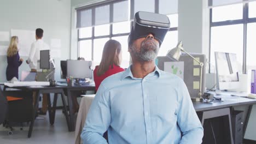
[[[210, 9], [210, 62], [215, 65], [215, 51], [236, 53], [238, 72], [246, 73], [247, 69], [256, 68], [254, 60], [254, 53], [256, 52], [256, 43], [254, 42], [256, 37], [256, 2], [236, 2], [237, 4], [216, 7], [216, 5], [234, 3], [234, 1], [236, 0], [210, 0], [212, 3], [210, 6], [213, 6]], [[214, 2], [216, 2], [215, 5]], [[214, 69], [210, 67], [209, 72], [213, 73]]]

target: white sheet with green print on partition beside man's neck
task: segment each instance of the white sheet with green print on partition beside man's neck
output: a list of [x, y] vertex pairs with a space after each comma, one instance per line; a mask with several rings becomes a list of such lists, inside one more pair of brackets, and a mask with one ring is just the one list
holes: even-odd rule
[[165, 62], [164, 71], [177, 75], [184, 80], [184, 62]]

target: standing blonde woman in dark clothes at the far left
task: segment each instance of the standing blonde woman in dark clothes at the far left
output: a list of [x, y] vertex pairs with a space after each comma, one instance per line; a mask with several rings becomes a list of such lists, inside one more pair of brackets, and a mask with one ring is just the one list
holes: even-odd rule
[[20, 58], [18, 50], [19, 39], [17, 36], [13, 36], [10, 39], [10, 45], [7, 50], [7, 69], [6, 79], [9, 82], [18, 81], [19, 79], [19, 67], [23, 62]]

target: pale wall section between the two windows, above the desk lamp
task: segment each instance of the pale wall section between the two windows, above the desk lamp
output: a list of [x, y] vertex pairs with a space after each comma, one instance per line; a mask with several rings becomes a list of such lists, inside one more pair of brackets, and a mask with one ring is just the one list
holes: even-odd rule
[[183, 41], [188, 52], [204, 53], [209, 51], [208, 1], [179, 0], [178, 3], [178, 40]]

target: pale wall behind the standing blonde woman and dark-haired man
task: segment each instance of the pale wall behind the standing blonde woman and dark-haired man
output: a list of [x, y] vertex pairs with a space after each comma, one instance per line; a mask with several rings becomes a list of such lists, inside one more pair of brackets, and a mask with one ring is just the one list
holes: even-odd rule
[[[0, 31], [43, 28], [44, 41], [50, 44], [50, 39], [61, 39], [61, 59], [69, 58], [71, 0], [0, 0], [0, 21]], [[9, 42], [0, 42], [0, 45], [9, 45]], [[55, 62], [55, 77], [59, 79], [60, 58], [55, 59]], [[0, 56], [0, 82], [6, 81], [6, 67], [6, 56]], [[30, 70], [25, 62], [22, 63], [19, 73], [22, 70]]]

